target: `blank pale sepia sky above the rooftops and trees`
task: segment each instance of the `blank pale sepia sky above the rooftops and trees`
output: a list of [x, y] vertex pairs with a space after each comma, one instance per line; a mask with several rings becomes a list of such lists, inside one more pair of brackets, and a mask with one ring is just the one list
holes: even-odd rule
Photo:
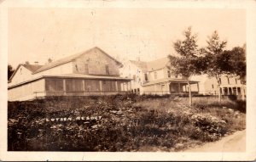
[[217, 30], [227, 48], [246, 43], [246, 10], [181, 8], [9, 8], [9, 58], [16, 66], [100, 47], [120, 61], [174, 53], [192, 26], [199, 45]]

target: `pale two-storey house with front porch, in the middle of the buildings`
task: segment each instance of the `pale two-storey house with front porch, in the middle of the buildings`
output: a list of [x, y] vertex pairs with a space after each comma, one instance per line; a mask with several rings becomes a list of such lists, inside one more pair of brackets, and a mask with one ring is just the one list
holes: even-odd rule
[[[169, 59], [143, 62], [130, 60], [121, 68], [121, 76], [131, 79], [131, 91], [137, 94], [186, 94], [187, 81], [182, 75], [172, 75]], [[199, 81], [190, 81], [192, 93], [199, 92]]]

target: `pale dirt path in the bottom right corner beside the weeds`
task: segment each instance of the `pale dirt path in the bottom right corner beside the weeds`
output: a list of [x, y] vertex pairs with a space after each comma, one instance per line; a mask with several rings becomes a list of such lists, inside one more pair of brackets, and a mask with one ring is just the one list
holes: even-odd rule
[[246, 130], [236, 131], [217, 142], [209, 142], [198, 148], [190, 148], [184, 152], [244, 152], [246, 151]]

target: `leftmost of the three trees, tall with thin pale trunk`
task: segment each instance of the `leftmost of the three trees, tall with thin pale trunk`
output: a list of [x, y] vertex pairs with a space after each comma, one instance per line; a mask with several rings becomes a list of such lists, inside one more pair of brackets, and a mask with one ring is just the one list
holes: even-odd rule
[[188, 83], [189, 87], [189, 106], [192, 105], [192, 95], [190, 87], [190, 79], [192, 75], [200, 73], [198, 62], [198, 45], [197, 35], [192, 34], [191, 27], [184, 31], [185, 36], [183, 41], [177, 40], [174, 42], [174, 49], [177, 52], [177, 56], [169, 55], [170, 66], [169, 69], [175, 75], [183, 75], [183, 78]]

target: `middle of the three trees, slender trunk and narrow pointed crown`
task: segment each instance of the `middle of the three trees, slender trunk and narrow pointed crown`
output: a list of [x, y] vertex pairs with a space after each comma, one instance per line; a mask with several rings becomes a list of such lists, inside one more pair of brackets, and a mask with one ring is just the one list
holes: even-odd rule
[[220, 41], [218, 32], [213, 31], [212, 36], [208, 36], [207, 47], [205, 49], [204, 61], [207, 64], [204, 73], [208, 77], [215, 77], [218, 82], [218, 101], [221, 100], [220, 84], [221, 75], [229, 74], [231, 67], [229, 64], [230, 55], [224, 53], [226, 41]]

